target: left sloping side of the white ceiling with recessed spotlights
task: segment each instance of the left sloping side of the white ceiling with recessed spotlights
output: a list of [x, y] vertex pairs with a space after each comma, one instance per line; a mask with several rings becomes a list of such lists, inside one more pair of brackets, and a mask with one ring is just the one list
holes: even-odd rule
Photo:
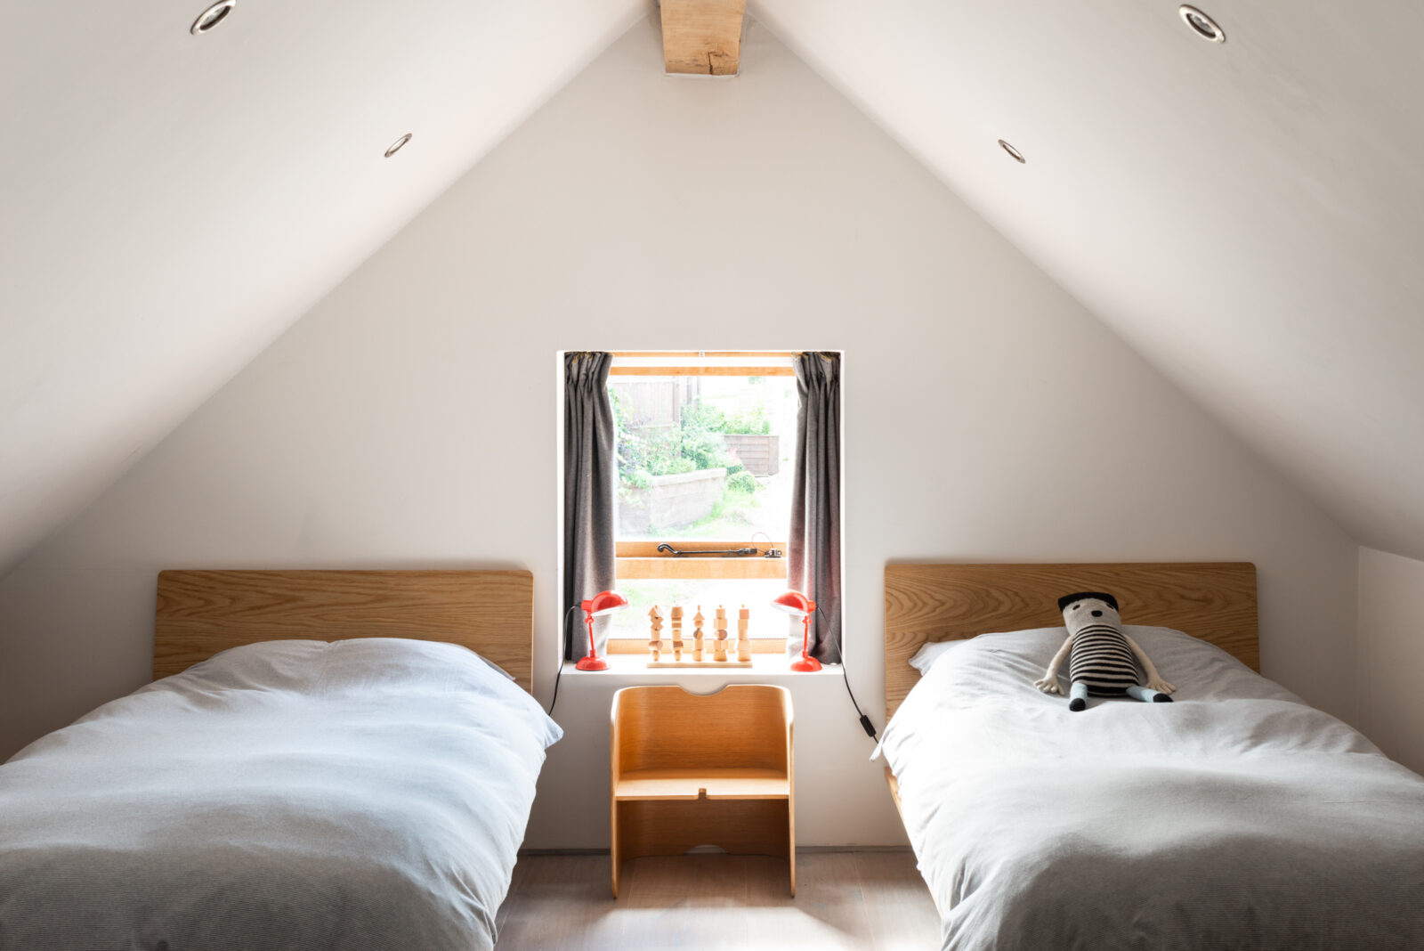
[[0, 575], [648, 9], [209, 1], [0, 9]]

